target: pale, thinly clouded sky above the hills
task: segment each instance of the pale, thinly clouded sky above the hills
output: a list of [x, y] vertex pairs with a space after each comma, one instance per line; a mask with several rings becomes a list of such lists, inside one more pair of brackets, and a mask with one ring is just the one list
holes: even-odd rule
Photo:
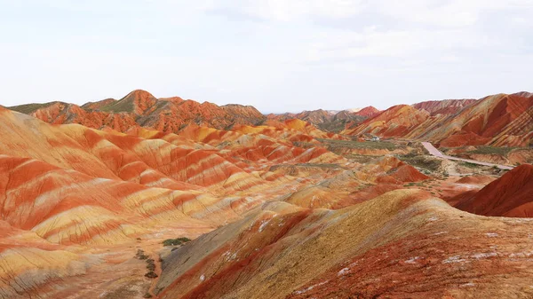
[[0, 0], [0, 105], [263, 113], [533, 91], [533, 0]]

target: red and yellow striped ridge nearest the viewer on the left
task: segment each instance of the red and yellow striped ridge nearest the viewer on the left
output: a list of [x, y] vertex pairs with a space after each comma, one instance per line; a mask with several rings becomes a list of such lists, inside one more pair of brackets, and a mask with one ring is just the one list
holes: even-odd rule
[[[237, 216], [229, 203], [196, 191], [89, 177], [28, 158], [0, 156], [0, 165], [4, 221], [56, 244], [116, 244], [153, 221], [209, 226]], [[206, 214], [208, 222], [191, 219]]]

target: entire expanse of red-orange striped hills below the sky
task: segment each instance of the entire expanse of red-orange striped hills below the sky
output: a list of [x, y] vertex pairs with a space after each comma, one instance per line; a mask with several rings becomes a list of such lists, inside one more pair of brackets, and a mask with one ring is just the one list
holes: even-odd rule
[[134, 90], [0, 129], [3, 299], [533, 297], [528, 92], [264, 115]]

